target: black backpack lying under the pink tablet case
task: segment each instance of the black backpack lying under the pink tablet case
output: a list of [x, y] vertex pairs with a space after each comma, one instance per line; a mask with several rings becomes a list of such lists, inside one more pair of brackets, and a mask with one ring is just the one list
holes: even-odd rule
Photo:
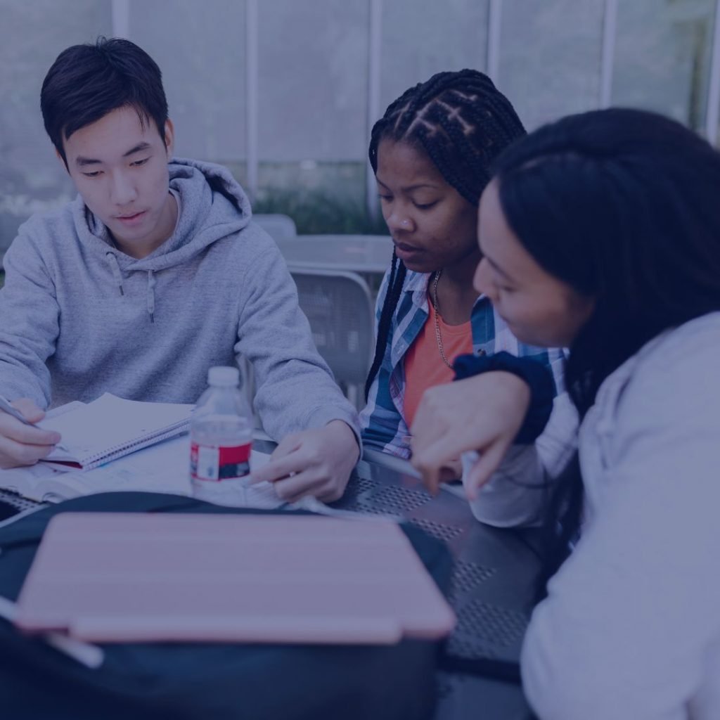
[[[57, 513], [262, 513], [146, 492], [89, 495], [0, 528], [0, 595], [17, 598]], [[440, 541], [403, 531], [442, 590], [451, 559]], [[242, 552], [242, 549], [238, 549]], [[98, 670], [0, 620], [0, 716], [8, 720], [412, 720], [435, 706], [438, 644], [392, 646], [107, 644]]]

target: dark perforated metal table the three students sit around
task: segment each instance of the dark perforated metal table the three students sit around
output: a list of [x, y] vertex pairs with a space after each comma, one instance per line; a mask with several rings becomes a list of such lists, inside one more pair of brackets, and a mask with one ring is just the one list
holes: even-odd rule
[[[269, 452], [274, 444], [256, 441]], [[0, 491], [18, 511], [40, 504]], [[451, 492], [436, 498], [409, 474], [361, 461], [343, 498], [333, 507], [402, 516], [444, 541], [455, 559], [450, 602], [458, 624], [448, 649], [461, 657], [518, 660], [528, 623], [539, 560], [533, 531], [502, 530], [479, 523], [467, 502]], [[4, 522], [12, 522], [12, 518]], [[438, 672], [435, 720], [526, 720], [521, 688], [493, 680]]]

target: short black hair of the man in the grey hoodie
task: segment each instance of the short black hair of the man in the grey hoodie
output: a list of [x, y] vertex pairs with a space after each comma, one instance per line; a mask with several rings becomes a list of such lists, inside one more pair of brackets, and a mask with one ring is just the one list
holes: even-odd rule
[[162, 73], [130, 40], [99, 37], [94, 44], [72, 45], [58, 55], [42, 82], [42, 120], [66, 166], [63, 140], [120, 107], [134, 108], [143, 125], [153, 120], [165, 140], [168, 102]]

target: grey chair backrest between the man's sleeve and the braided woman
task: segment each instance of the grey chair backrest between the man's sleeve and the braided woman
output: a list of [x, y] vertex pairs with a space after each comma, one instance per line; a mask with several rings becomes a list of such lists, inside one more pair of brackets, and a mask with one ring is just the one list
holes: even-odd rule
[[315, 346], [348, 398], [359, 405], [374, 350], [374, 303], [356, 273], [290, 266]]

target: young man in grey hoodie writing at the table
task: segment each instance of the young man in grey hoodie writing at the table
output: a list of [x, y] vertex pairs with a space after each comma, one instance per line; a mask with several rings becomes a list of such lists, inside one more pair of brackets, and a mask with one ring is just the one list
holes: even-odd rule
[[[258, 480], [286, 500], [340, 497], [359, 457], [356, 412], [243, 189], [221, 166], [171, 159], [156, 63], [127, 40], [73, 45], [41, 107], [79, 195], [31, 217], [5, 255], [0, 392], [30, 423], [106, 391], [195, 402], [210, 366], [244, 356], [281, 440]], [[0, 467], [33, 464], [59, 439], [0, 411]]]

